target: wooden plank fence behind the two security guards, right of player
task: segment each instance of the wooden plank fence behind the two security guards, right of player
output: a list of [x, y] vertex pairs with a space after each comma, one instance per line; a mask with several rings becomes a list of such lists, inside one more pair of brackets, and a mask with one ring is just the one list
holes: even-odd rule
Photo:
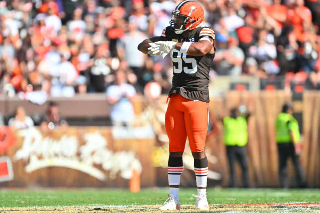
[[[252, 116], [248, 120], [249, 141], [246, 145], [250, 183], [257, 187], [278, 187], [278, 153], [275, 140], [275, 120], [281, 112], [282, 105], [291, 101], [291, 94], [284, 91], [275, 92], [228, 92], [224, 98], [213, 98], [210, 102], [210, 110], [216, 117], [228, 114], [232, 107], [244, 103], [252, 105]], [[298, 105], [298, 104], [297, 104]], [[308, 186], [320, 186], [320, 93], [305, 92], [302, 100], [303, 134], [301, 142], [303, 150], [301, 163]], [[218, 134], [207, 138], [207, 145], [215, 146], [215, 155], [219, 163], [213, 165], [222, 174], [222, 186], [227, 186], [229, 181], [228, 162], [223, 145], [223, 127], [219, 123]], [[216, 170], [217, 171], [217, 170]], [[295, 186], [295, 171], [292, 162], [289, 163], [289, 176], [291, 185]], [[240, 166], [237, 166], [237, 184], [242, 185]]]

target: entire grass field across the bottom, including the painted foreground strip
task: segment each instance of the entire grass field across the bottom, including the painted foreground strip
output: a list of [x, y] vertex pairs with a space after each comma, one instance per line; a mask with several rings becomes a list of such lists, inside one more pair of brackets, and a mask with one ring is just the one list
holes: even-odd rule
[[[41, 212], [44, 207], [46, 211], [50, 207], [55, 207], [52, 212], [61, 212], [67, 207], [65, 212], [101, 212], [113, 210], [115, 212], [131, 211], [124, 206], [137, 206], [135, 211], [154, 211], [157, 212], [158, 206], [164, 202], [168, 190], [166, 189], [143, 189], [139, 193], [131, 193], [128, 190], [119, 189], [41, 189], [41, 190], [0, 190], [0, 212], [11, 212], [16, 207], [20, 211], [37, 209]], [[192, 194], [196, 194], [196, 189], [181, 189], [180, 202], [185, 205], [185, 210], [196, 211], [194, 208], [195, 198]], [[305, 189], [305, 190], [282, 190], [282, 189], [208, 189], [208, 202], [211, 205], [211, 211], [235, 211], [235, 212], [320, 212], [320, 190]], [[295, 203], [295, 204], [284, 204]], [[301, 204], [306, 203], [306, 204]], [[236, 204], [236, 205], [234, 205]], [[255, 205], [261, 204], [261, 205]], [[148, 205], [152, 205], [149, 206]], [[307, 205], [314, 205], [305, 208]], [[122, 207], [117, 207], [122, 206]], [[280, 206], [280, 207], [279, 207]], [[36, 208], [34, 208], [36, 207]], [[85, 208], [81, 208], [85, 207]], [[94, 209], [94, 208], [99, 208]], [[110, 207], [110, 209], [108, 209]], [[145, 208], [144, 208], [145, 207]], [[248, 207], [248, 208], [247, 208]], [[275, 208], [270, 208], [275, 207]], [[277, 209], [279, 207], [279, 209]], [[78, 208], [78, 209], [77, 209]], [[79, 209], [80, 208], [80, 209]], [[91, 208], [91, 209], [90, 209]], [[123, 209], [121, 209], [123, 208]], [[258, 208], [258, 209], [257, 209]], [[118, 211], [117, 211], [118, 210]], [[29, 210], [28, 210], [29, 211]], [[36, 211], [36, 210], [35, 210]], [[63, 210], [64, 211], [64, 210]], [[30, 211], [29, 211], [30, 212]], [[37, 211], [36, 211], [37, 212]], [[51, 211], [50, 211], [51, 212]]]

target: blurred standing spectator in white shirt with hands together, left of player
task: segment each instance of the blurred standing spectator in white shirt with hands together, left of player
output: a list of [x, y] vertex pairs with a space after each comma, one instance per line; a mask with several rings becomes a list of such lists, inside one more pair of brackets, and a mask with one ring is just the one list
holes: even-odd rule
[[135, 95], [135, 88], [126, 83], [125, 72], [117, 70], [116, 83], [107, 88], [108, 102], [113, 105], [110, 112], [113, 124], [128, 124], [133, 121], [134, 111], [131, 101]]

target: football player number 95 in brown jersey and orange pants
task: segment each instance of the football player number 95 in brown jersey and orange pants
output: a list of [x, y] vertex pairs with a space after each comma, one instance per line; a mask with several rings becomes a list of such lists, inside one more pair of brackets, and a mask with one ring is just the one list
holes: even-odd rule
[[170, 26], [162, 35], [146, 39], [138, 49], [164, 58], [170, 54], [173, 63], [170, 102], [165, 115], [169, 137], [169, 198], [163, 210], [180, 209], [179, 185], [183, 171], [182, 154], [188, 137], [194, 157], [197, 195], [196, 207], [208, 210], [206, 197], [208, 160], [204, 145], [208, 128], [209, 70], [214, 58], [214, 31], [202, 27], [204, 10], [195, 1], [179, 3], [172, 11]]

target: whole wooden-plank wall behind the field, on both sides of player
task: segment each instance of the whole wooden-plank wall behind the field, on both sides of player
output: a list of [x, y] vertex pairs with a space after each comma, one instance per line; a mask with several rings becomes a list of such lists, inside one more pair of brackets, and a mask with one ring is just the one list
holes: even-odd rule
[[[140, 101], [143, 99], [139, 99]], [[236, 107], [239, 104], [245, 104], [252, 111], [252, 116], [248, 120], [249, 142], [246, 145], [250, 170], [250, 183], [254, 187], [279, 187], [278, 179], [278, 153], [275, 141], [275, 119], [277, 114], [281, 111], [283, 103], [291, 101], [291, 93], [286, 91], [263, 91], [263, 92], [233, 92], [230, 91], [224, 97], [213, 97], [209, 104], [209, 110], [212, 117], [228, 115], [228, 110]], [[141, 108], [140, 114], [147, 110], [165, 110], [165, 97], [160, 100], [153, 100], [152, 102], [144, 101], [143, 103], [135, 103], [135, 106]], [[303, 142], [303, 150], [301, 154], [301, 162], [306, 175], [309, 187], [320, 186], [320, 93], [319, 92], [305, 92], [303, 94], [302, 103], [294, 103], [294, 110], [302, 112], [303, 133], [301, 141]], [[157, 108], [158, 107], [158, 108]], [[149, 111], [150, 112], [150, 111]], [[161, 112], [163, 113], [163, 112]], [[150, 113], [145, 115], [151, 116]], [[144, 117], [145, 118], [145, 117]], [[136, 169], [139, 170], [139, 163], [142, 167], [140, 180], [142, 187], [152, 186], [166, 186], [167, 174], [166, 164], [168, 156], [168, 144], [160, 140], [160, 135], [163, 134], [164, 124], [161, 119], [152, 117], [148, 121], [149, 124], [155, 128], [155, 135], [152, 137], [152, 131], [146, 130], [145, 135], [138, 134], [141, 131], [140, 126], [146, 125], [147, 121], [137, 122], [136, 127], [132, 127], [127, 132], [128, 135], [115, 138], [113, 135], [113, 127], [69, 127], [68, 129], [42, 131], [36, 129], [38, 133], [30, 133], [28, 130], [21, 130], [15, 132], [17, 141], [15, 145], [8, 147], [1, 156], [10, 156], [13, 165], [14, 179], [11, 181], [4, 181], [0, 183], [0, 187], [128, 187], [130, 172], [125, 171]], [[144, 121], [144, 120], [143, 120]], [[229, 169], [228, 161], [225, 154], [225, 146], [223, 143], [223, 126], [221, 122], [216, 122], [216, 128], [219, 130], [210, 134], [207, 137], [206, 149], [211, 159], [216, 158], [217, 161], [210, 161], [209, 169], [221, 175], [221, 179], [209, 179], [208, 186], [228, 186]], [[128, 128], [128, 127], [121, 127]], [[135, 129], [135, 128], [140, 128]], [[143, 129], [143, 127], [142, 127]], [[51, 144], [51, 148], [38, 146], [29, 150], [23, 144], [26, 139], [23, 135], [41, 135], [40, 142]], [[128, 138], [130, 134], [137, 133], [135, 138]], [[143, 131], [142, 131], [143, 133]], [[123, 134], [126, 134], [124, 131]], [[37, 137], [40, 137], [39, 135]], [[63, 138], [65, 137], [65, 138]], [[72, 139], [71, 137], [74, 138]], [[139, 138], [140, 137], [140, 138]], [[144, 138], [143, 138], [144, 137]], [[163, 138], [163, 135], [162, 135]], [[31, 143], [35, 143], [34, 140]], [[51, 140], [51, 141], [50, 141]], [[77, 146], [69, 146], [68, 141], [76, 141]], [[103, 147], [103, 141], [106, 144]], [[75, 143], [73, 141], [73, 143]], [[55, 147], [54, 143], [59, 143], [59, 147]], [[100, 144], [100, 149], [95, 148], [95, 144]], [[63, 147], [64, 146], [64, 147]], [[18, 153], [19, 150], [24, 151]], [[73, 150], [68, 151], [64, 150]], [[3, 150], [3, 149], [0, 149]], [[55, 151], [54, 151], [55, 150]], [[102, 150], [102, 151], [101, 151]], [[46, 153], [48, 152], [48, 153]], [[100, 153], [101, 152], [101, 153]], [[100, 153], [95, 155], [95, 153]], [[184, 154], [185, 171], [181, 176], [182, 186], [195, 186], [194, 172], [188, 169], [192, 165], [192, 157], [190, 157], [188, 146]], [[106, 155], [112, 157], [106, 158]], [[127, 157], [128, 156], [128, 157]], [[37, 167], [37, 161], [30, 166], [32, 160], [52, 158], [66, 159], [65, 164], [70, 160], [80, 162], [76, 169], [66, 167], [47, 166], [43, 168]], [[63, 158], [65, 157], [65, 158]], [[126, 158], [130, 159], [130, 164], [126, 162]], [[115, 162], [116, 161], [116, 162]], [[58, 161], [57, 161], [58, 162]], [[50, 162], [47, 165], [54, 165], [57, 162]], [[70, 161], [73, 162], [73, 161]], [[109, 164], [108, 164], [109, 162]], [[110, 164], [111, 162], [111, 164]], [[58, 162], [59, 163], [59, 162]], [[61, 163], [61, 162], [60, 162]], [[28, 167], [29, 165], [29, 167]], [[104, 178], [99, 179], [99, 171], [86, 170], [82, 166], [92, 166], [104, 174]], [[29, 170], [29, 171], [27, 171]], [[85, 171], [85, 172], [84, 172]], [[237, 165], [237, 185], [242, 186], [242, 175], [240, 166]], [[93, 172], [90, 174], [90, 172]], [[289, 177], [291, 186], [295, 186], [294, 168], [289, 162]], [[1, 180], [0, 180], [1, 181]]]

